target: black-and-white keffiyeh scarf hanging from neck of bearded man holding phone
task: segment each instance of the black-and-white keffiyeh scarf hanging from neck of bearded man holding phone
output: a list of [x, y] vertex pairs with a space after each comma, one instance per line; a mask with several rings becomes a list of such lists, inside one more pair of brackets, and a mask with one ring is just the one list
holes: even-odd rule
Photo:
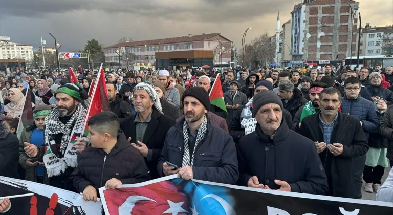
[[201, 127], [198, 131], [198, 135], [197, 135], [197, 139], [195, 139], [195, 145], [193, 148], [193, 152], [192, 152], [192, 157], [190, 160], [190, 148], [188, 145], [188, 131], [187, 131], [187, 121], [184, 120], [184, 124], [183, 124], [183, 136], [184, 136], [184, 154], [183, 154], [183, 162], [182, 162], [182, 166], [191, 166], [194, 163], [194, 156], [195, 156], [195, 149], [197, 148], [198, 144], [200, 143], [200, 141], [205, 137], [206, 132], [207, 132], [207, 116], [205, 114], [205, 119], [203, 120]]

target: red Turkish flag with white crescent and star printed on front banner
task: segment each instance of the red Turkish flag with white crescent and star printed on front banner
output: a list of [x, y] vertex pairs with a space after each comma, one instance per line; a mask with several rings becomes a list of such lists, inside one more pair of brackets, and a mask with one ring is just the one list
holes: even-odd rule
[[107, 215], [122, 214], [189, 214], [185, 193], [171, 181], [140, 187], [106, 189], [103, 191]]

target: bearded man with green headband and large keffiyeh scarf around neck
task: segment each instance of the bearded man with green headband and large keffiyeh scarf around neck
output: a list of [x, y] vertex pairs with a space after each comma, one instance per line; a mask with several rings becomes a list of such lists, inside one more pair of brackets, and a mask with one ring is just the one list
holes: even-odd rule
[[[83, 132], [86, 109], [79, 101], [78, 87], [74, 84], [62, 85], [56, 90], [55, 96], [56, 107], [45, 118], [45, 146], [24, 142], [24, 150], [32, 162], [45, 164], [45, 184], [76, 191], [70, 175], [73, 167], [78, 165], [78, 154], [86, 147], [83, 138], [75, 139]], [[73, 144], [74, 140], [76, 142]], [[46, 176], [50, 178], [49, 182]]]

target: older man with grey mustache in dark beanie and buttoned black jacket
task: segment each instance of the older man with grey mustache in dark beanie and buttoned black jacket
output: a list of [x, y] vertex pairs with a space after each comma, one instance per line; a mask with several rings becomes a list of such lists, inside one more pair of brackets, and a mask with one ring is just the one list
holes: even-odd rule
[[[255, 132], [239, 142], [243, 186], [323, 195], [328, 180], [314, 143], [288, 129], [281, 100], [271, 91], [253, 98]], [[281, 159], [285, 158], [285, 159]]]

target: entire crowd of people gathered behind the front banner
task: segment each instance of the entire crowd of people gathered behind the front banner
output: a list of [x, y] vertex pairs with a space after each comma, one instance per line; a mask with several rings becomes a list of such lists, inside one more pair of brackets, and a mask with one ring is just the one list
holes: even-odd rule
[[[83, 193], [190, 180], [393, 202], [393, 67], [107, 71], [111, 112], [81, 134], [97, 74], [0, 73], [0, 176]], [[226, 110], [210, 103], [220, 78]], [[17, 138], [25, 96], [34, 123]], [[255, 119], [255, 126], [250, 125]], [[253, 128], [250, 128], [253, 127]], [[251, 129], [251, 131], [250, 131]], [[247, 135], [246, 135], [247, 134]], [[362, 187], [362, 180], [365, 186]], [[11, 206], [0, 202], [0, 212]]]

